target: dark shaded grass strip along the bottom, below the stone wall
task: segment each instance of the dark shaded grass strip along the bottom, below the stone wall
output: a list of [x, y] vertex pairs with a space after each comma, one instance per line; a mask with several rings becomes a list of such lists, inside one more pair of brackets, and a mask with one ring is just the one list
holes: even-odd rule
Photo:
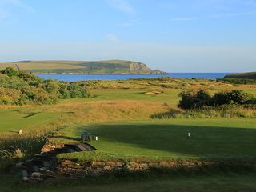
[[54, 184], [18, 184], [11, 175], [0, 175], [2, 192], [252, 192], [256, 190], [255, 174], [191, 175], [162, 178], [111, 178], [81, 182], [66, 181]]

